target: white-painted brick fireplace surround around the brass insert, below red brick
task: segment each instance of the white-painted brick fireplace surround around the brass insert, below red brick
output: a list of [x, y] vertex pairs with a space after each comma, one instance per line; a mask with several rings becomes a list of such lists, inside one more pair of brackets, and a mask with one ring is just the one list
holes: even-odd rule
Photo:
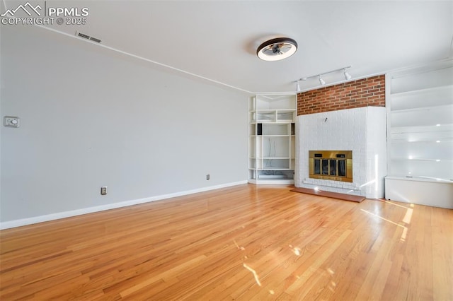
[[[352, 151], [352, 183], [309, 178], [309, 151]], [[294, 185], [384, 197], [386, 108], [360, 107], [297, 117]]]

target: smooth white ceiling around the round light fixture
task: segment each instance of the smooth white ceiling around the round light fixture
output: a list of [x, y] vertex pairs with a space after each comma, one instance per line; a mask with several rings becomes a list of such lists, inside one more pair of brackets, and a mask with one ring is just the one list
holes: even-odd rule
[[[33, 3], [32, 0], [30, 0]], [[39, 2], [39, 1], [38, 1]], [[17, 1], [5, 1], [14, 8]], [[101, 39], [144, 64], [171, 67], [252, 93], [295, 91], [294, 81], [344, 66], [352, 79], [452, 56], [453, 1], [47, 1], [89, 8], [86, 25], [51, 25]], [[58, 35], [55, 35], [58, 38]], [[296, 54], [261, 61], [272, 37]], [[82, 43], [82, 42], [81, 42]], [[148, 60], [148, 61], [147, 61]], [[180, 71], [178, 71], [180, 70]], [[343, 81], [341, 72], [324, 76]], [[302, 90], [319, 85], [301, 82]]]

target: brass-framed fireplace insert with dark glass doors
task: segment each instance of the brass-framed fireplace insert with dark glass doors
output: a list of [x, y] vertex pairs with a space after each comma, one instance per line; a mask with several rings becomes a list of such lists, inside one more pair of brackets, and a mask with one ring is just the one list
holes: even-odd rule
[[309, 177], [352, 182], [352, 151], [309, 151]]

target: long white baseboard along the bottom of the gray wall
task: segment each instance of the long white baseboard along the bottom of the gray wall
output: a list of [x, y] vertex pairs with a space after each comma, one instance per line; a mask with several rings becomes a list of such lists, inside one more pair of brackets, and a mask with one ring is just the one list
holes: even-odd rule
[[197, 193], [203, 192], [203, 191], [221, 189], [221, 188], [231, 187], [231, 186], [236, 186], [236, 185], [241, 185], [241, 184], [247, 184], [247, 181], [245, 180], [245, 181], [239, 181], [239, 182], [232, 182], [232, 183], [227, 183], [227, 184], [220, 184], [220, 185], [215, 185], [215, 186], [203, 187], [203, 188], [200, 188], [200, 189], [193, 189], [193, 190], [188, 190], [188, 191], [180, 191], [180, 192], [176, 192], [174, 194], [162, 194], [160, 196], [151, 196], [149, 198], [144, 198], [144, 199], [135, 199], [135, 200], [130, 200], [130, 201], [122, 201], [120, 203], [109, 203], [109, 204], [102, 205], [102, 206], [81, 208], [81, 209], [76, 209], [76, 210], [71, 210], [71, 211], [64, 211], [64, 212], [59, 212], [59, 213], [52, 213], [52, 214], [47, 214], [45, 216], [35, 216], [33, 218], [22, 218], [20, 220], [10, 220], [10, 221], [7, 221], [7, 222], [0, 223], [0, 230], [1, 229], [21, 227], [23, 225], [31, 225], [31, 224], [35, 224], [35, 223], [47, 222], [49, 220], [59, 220], [61, 218], [69, 218], [71, 216], [81, 216], [81, 215], [87, 214], [87, 213], [93, 213], [93, 212], [98, 212], [98, 211], [105, 211], [105, 210], [110, 210], [110, 209], [115, 209], [115, 208], [127, 207], [127, 206], [137, 205], [139, 203], [148, 203], [150, 201], [159, 201], [159, 200], [162, 200], [162, 199], [170, 199], [170, 198], [174, 198], [176, 196], [185, 196], [185, 195], [188, 195], [188, 194], [197, 194]]

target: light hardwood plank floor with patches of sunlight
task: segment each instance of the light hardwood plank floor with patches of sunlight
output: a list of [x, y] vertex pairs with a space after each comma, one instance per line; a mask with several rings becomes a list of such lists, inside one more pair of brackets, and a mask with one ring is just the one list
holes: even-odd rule
[[453, 210], [289, 189], [2, 230], [0, 299], [453, 300]]

